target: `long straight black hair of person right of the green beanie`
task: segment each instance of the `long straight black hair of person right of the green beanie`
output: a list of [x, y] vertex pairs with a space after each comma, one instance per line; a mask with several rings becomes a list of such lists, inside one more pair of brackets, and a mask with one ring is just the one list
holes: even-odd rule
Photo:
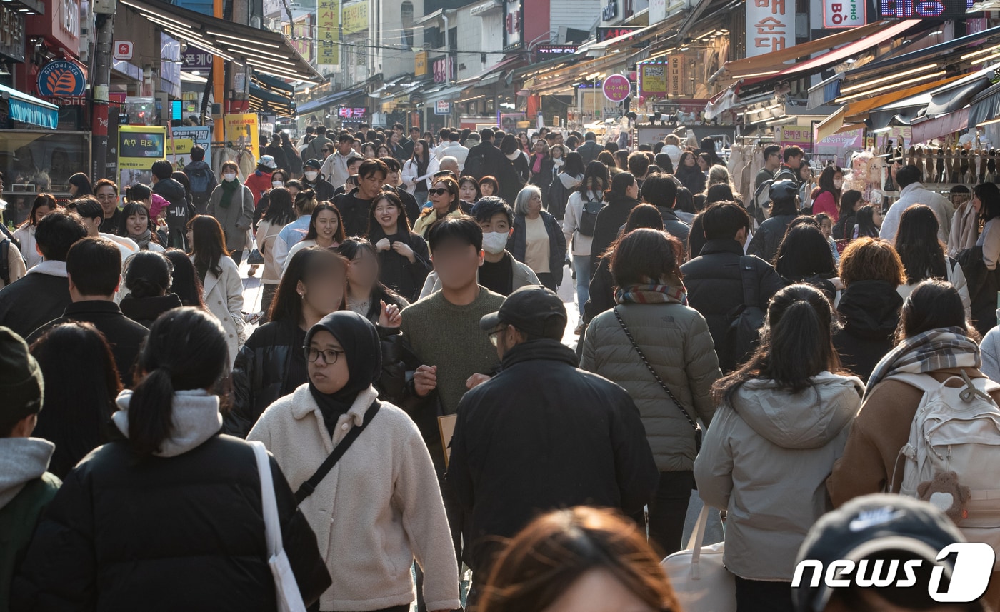
[[[70, 354], [75, 363], [67, 368]], [[111, 347], [92, 323], [52, 327], [32, 343], [31, 355], [49, 381], [34, 435], [56, 445], [49, 471], [64, 479], [90, 451], [111, 441], [108, 421], [122, 383]]]

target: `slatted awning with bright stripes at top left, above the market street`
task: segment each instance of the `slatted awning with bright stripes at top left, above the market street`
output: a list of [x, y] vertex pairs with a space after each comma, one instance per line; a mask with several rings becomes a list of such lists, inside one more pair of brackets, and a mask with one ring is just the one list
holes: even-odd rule
[[322, 75], [279, 32], [205, 15], [161, 0], [121, 0], [170, 36], [262, 74], [319, 83]]

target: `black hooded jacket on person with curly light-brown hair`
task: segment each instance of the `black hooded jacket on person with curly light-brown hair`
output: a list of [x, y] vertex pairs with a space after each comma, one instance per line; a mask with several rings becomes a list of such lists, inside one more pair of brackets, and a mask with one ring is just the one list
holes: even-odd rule
[[903, 298], [885, 281], [855, 281], [837, 304], [843, 329], [833, 335], [841, 365], [861, 380], [892, 350]]

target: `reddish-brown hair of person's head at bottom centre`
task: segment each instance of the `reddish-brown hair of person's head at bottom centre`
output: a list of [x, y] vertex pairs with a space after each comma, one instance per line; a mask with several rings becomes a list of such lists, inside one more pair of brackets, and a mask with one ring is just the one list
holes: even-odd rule
[[595, 569], [654, 610], [680, 609], [659, 555], [635, 523], [578, 507], [541, 516], [514, 537], [490, 572], [480, 612], [541, 612]]

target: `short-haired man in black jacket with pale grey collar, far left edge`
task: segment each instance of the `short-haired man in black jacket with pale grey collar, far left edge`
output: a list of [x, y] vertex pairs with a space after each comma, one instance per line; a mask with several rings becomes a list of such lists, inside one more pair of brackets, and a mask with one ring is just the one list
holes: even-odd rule
[[87, 228], [75, 212], [57, 209], [38, 222], [35, 240], [44, 260], [24, 278], [0, 289], [0, 325], [24, 337], [62, 315], [72, 302], [66, 253], [73, 243], [86, 237]]

